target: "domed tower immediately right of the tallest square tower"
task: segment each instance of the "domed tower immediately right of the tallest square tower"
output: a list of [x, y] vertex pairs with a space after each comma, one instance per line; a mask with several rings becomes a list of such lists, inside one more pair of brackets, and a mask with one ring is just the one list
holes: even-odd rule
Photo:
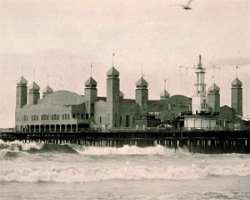
[[148, 104], [148, 83], [143, 76], [136, 82], [135, 101], [142, 110], [147, 109]]

